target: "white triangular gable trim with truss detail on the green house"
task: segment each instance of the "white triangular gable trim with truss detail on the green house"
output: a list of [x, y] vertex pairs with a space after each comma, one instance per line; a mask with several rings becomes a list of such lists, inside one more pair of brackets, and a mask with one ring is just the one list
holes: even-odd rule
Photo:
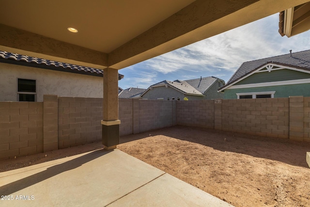
[[[277, 68], [274, 68], [274, 67], [277, 67]], [[267, 70], [265, 70], [265, 68]], [[265, 64], [262, 67], [256, 69], [255, 71], [249, 73], [247, 76], [232, 82], [231, 84], [227, 85], [225, 88], [222, 88], [221, 90], [219, 90], [219, 92], [221, 92], [221, 91], [223, 91], [223, 90], [225, 90], [227, 88], [233, 89], [235, 87], [234, 84], [240, 82], [241, 80], [244, 80], [244, 79], [248, 78], [249, 76], [253, 75], [254, 73], [271, 72], [273, 70], [281, 70], [281, 69], [289, 69], [289, 70], [294, 70], [294, 71], [310, 74], [310, 71], [308, 71], [308, 70], [303, 70], [303, 69], [299, 69], [299, 68], [295, 68], [295, 67], [283, 66], [283, 65], [280, 65], [280, 64], [270, 63], [270, 64]], [[291, 80], [291, 81], [296, 82], [296, 80]], [[276, 81], [276, 82], [285, 82], [285, 81]], [[276, 83], [276, 82], [253, 83], [253, 84], [267, 84], [267, 83]], [[293, 84], [293, 83], [291, 83], [291, 84]], [[252, 84], [244, 84], [242, 86], [245, 86], [245, 85], [252, 85]], [[290, 85], [290, 84], [283, 84], [283, 85]], [[261, 86], [252, 86], [252, 87], [261, 87]], [[244, 87], [242, 87], [242, 88], [244, 88]]]

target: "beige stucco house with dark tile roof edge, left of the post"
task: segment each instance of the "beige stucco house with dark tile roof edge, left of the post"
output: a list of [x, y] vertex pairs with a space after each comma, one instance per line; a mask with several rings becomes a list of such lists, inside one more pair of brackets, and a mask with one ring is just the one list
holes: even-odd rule
[[103, 70], [0, 51], [0, 101], [43, 95], [102, 98]]

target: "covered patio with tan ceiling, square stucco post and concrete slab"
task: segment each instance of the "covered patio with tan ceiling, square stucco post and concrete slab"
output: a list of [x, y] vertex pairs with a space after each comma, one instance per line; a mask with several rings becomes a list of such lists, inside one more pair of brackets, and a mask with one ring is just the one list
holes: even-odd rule
[[[309, 17], [308, 6], [304, 7], [304, 12], [298, 12], [299, 16], [295, 19], [293, 13], [295, 9], [297, 11], [301, 8], [297, 8], [298, 5], [308, 1], [1, 2], [0, 50], [104, 70], [104, 110], [100, 127], [102, 144], [108, 150], [1, 173], [1, 195], [19, 194], [29, 196], [23, 197], [28, 200], [31, 200], [31, 195], [46, 196], [35, 197], [37, 206], [46, 204], [47, 201], [63, 206], [86, 206], [92, 202], [100, 206], [144, 206], [145, 200], [141, 194], [148, 192], [152, 199], [162, 199], [159, 200], [161, 204], [157, 203], [160, 206], [171, 206], [171, 199], [175, 199], [175, 204], [189, 202], [188, 206], [228, 206], [227, 203], [116, 149], [120, 144], [121, 124], [118, 70], [287, 9], [290, 9], [290, 15], [283, 18], [290, 18], [291, 23], [286, 22], [284, 31], [290, 31], [291, 27], [291, 30], [298, 28], [299, 32], [303, 32], [309, 28], [304, 21]], [[302, 27], [293, 27], [298, 24]], [[290, 32], [287, 35], [297, 33]], [[54, 99], [56, 97], [48, 99], [53, 104], [43, 104], [43, 108], [52, 105], [58, 107], [58, 100]], [[50, 121], [48, 116], [43, 115], [43, 119], [45, 123]], [[58, 117], [53, 119], [55, 120], [52, 121], [57, 123]], [[46, 124], [43, 128], [58, 131], [58, 124]], [[44, 152], [58, 149], [57, 133], [46, 133], [44, 137]], [[89, 175], [95, 176], [96, 179], [87, 177]], [[65, 183], [65, 193], [58, 191], [63, 189], [62, 180], [71, 181]], [[100, 182], [97, 182], [98, 180]], [[169, 185], [163, 183], [170, 183], [172, 188], [167, 190]], [[43, 194], [38, 192], [41, 189]], [[77, 189], [80, 191], [78, 194]], [[180, 189], [182, 191], [179, 191]], [[169, 196], [160, 194], [162, 192], [169, 192]], [[80, 196], [83, 194], [87, 194], [88, 197]], [[59, 196], [62, 200], [56, 200]], [[81, 203], [76, 203], [77, 201]], [[133, 203], [128, 203], [129, 201]], [[208, 203], [209, 201], [211, 202]], [[28, 204], [33, 206], [31, 201]], [[20, 203], [15, 199], [12, 205], [20, 206]]]

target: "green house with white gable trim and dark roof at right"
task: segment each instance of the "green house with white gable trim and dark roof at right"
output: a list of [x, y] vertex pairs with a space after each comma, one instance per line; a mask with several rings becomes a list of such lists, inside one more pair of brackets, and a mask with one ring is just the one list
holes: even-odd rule
[[245, 62], [219, 92], [225, 99], [310, 96], [310, 50]]

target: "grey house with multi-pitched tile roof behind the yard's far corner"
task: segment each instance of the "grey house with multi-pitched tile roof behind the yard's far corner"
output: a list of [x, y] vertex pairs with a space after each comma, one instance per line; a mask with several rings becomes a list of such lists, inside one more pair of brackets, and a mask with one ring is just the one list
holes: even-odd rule
[[192, 80], [164, 80], [151, 85], [141, 96], [143, 99], [188, 100], [223, 98], [217, 90], [225, 84], [216, 77]]

